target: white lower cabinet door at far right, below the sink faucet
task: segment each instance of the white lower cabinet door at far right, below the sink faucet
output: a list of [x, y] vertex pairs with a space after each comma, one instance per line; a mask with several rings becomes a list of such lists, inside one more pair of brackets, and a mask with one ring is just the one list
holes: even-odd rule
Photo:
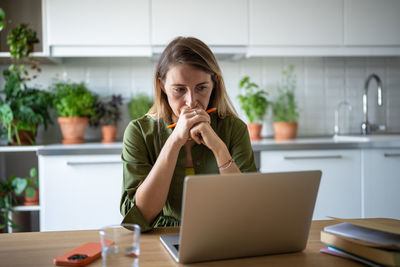
[[363, 217], [400, 219], [400, 149], [364, 149]]

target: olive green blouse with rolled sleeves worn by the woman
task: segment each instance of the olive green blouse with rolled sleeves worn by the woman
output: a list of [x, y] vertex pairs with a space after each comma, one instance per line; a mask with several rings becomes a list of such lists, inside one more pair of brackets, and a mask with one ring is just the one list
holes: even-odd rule
[[[255, 172], [254, 154], [246, 124], [234, 116], [221, 119], [217, 114], [210, 114], [210, 117], [211, 127], [226, 144], [238, 168], [242, 172]], [[149, 174], [163, 144], [173, 131], [173, 129], [167, 129], [166, 126], [149, 115], [145, 115], [131, 121], [124, 133], [123, 188], [120, 204], [121, 214], [124, 216], [122, 222], [139, 224], [143, 232], [149, 231], [153, 227], [178, 226], [180, 224], [183, 181], [186, 171], [184, 146], [178, 155], [164, 208], [152, 224], [146, 223], [135, 205], [136, 189]], [[214, 154], [205, 145], [194, 144], [192, 160], [196, 174], [219, 173]]]

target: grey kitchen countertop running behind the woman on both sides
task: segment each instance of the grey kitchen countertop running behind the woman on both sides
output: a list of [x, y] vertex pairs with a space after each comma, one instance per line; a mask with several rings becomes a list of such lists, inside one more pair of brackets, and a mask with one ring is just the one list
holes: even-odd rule
[[[289, 141], [275, 141], [264, 138], [252, 142], [254, 152], [264, 150], [319, 150], [319, 149], [361, 149], [361, 148], [400, 148], [400, 134], [371, 136], [332, 136], [298, 137]], [[38, 146], [0, 146], [0, 152], [36, 151], [38, 155], [96, 155], [120, 154], [122, 142], [102, 144], [84, 143], [75, 145], [38, 145]]]

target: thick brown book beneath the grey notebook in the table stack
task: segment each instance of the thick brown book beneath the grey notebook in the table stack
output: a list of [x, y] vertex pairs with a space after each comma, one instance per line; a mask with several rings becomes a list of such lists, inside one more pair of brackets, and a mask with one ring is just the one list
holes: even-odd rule
[[340, 235], [321, 231], [321, 241], [344, 252], [368, 259], [370, 261], [388, 265], [400, 266], [400, 252], [381, 248], [368, 247], [344, 238]]

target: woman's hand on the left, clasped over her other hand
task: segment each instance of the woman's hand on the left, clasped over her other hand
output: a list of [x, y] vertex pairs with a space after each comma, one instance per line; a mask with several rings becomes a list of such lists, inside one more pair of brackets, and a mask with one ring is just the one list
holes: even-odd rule
[[196, 111], [196, 109], [183, 107], [171, 136], [183, 146], [190, 138], [190, 129], [200, 122], [210, 123], [210, 116], [205, 112], [200, 112], [199, 109]]

